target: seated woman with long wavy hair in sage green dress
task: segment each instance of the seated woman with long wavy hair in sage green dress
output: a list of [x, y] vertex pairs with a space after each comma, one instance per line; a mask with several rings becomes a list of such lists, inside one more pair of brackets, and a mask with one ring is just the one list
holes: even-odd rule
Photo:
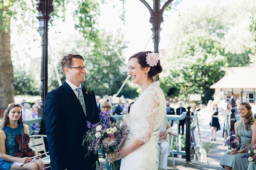
[[240, 103], [238, 113], [241, 120], [235, 123], [235, 134], [241, 136], [242, 145], [240, 148], [236, 147], [235, 151], [225, 152], [220, 162], [225, 170], [247, 170], [249, 161], [241, 157], [246, 154], [248, 145], [256, 143], [256, 121], [253, 118], [250, 104]]

